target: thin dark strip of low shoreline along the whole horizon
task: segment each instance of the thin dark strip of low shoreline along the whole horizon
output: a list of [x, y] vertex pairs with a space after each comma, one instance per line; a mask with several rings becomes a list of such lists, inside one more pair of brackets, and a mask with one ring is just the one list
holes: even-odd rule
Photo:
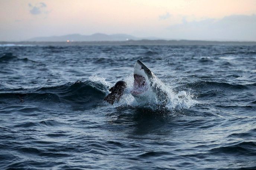
[[0, 41], [0, 44], [31, 45], [256, 45], [255, 41], [128, 40], [128, 41]]

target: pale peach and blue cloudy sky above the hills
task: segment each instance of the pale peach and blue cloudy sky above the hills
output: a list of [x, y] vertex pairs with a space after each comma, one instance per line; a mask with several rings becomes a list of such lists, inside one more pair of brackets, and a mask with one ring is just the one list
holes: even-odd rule
[[0, 0], [0, 41], [73, 33], [256, 41], [256, 0]]

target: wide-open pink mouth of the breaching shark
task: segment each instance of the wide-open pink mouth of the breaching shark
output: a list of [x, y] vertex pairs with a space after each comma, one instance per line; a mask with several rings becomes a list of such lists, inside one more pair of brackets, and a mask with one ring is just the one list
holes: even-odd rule
[[145, 77], [134, 74], [134, 83], [131, 90], [132, 94], [141, 94], [148, 90], [147, 81]]

